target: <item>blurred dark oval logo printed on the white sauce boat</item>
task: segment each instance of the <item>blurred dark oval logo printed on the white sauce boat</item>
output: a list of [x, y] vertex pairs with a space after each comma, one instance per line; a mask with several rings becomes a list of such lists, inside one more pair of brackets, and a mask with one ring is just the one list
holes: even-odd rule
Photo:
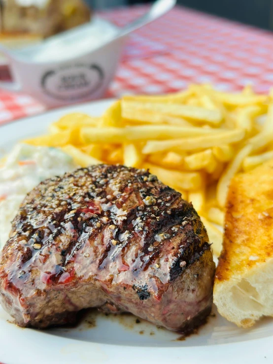
[[54, 99], [74, 101], [92, 95], [102, 86], [103, 79], [100, 66], [78, 64], [46, 71], [41, 86]]

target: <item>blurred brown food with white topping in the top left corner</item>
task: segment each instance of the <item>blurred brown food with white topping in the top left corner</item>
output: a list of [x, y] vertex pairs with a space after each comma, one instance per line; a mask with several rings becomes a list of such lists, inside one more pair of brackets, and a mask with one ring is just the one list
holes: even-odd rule
[[0, 42], [9, 47], [37, 42], [90, 21], [82, 0], [0, 0]]

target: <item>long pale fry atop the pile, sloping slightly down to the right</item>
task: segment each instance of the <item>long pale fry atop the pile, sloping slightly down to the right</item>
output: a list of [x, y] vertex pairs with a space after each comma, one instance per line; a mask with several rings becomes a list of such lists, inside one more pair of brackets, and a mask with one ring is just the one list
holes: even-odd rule
[[161, 112], [163, 114], [179, 116], [188, 118], [195, 122], [207, 122], [213, 125], [219, 125], [222, 121], [222, 114], [220, 110], [207, 110], [205, 107], [183, 105], [176, 103], [159, 103], [159, 102], [135, 102], [123, 99], [121, 101], [122, 116], [124, 117], [124, 110], [126, 108], [136, 110], [150, 110]]

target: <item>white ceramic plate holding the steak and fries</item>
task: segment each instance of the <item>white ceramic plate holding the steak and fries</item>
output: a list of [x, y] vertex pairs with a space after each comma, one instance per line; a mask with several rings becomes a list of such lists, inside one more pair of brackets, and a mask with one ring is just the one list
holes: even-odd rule
[[[0, 152], [18, 140], [44, 132], [68, 112], [99, 116], [111, 103], [104, 100], [18, 120], [0, 127]], [[21, 329], [0, 308], [0, 362], [49, 363], [273, 363], [273, 319], [263, 319], [243, 330], [217, 314], [197, 334], [184, 341], [177, 333], [158, 329], [131, 315], [104, 316], [91, 313], [73, 329], [44, 331]]]

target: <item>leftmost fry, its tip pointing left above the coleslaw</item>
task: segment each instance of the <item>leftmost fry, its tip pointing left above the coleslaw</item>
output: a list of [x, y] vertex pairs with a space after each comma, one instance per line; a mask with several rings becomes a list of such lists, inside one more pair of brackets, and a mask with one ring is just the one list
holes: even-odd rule
[[62, 147], [68, 144], [71, 140], [71, 132], [64, 131], [50, 135], [36, 136], [32, 139], [26, 139], [23, 142], [41, 147]]

